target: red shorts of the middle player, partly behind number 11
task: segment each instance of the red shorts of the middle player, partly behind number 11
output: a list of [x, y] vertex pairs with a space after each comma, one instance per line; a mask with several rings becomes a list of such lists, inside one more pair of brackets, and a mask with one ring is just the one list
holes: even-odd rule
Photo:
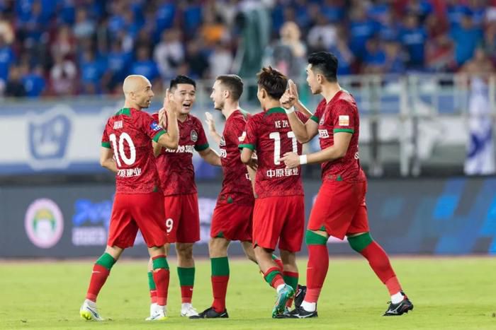
[[210, 237], [252, 242], [253, 206], [217, 204], [213, 210]]

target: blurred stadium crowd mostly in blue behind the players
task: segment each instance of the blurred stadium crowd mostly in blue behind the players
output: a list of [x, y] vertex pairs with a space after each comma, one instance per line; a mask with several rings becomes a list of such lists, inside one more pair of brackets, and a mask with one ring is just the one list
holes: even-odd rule
[[240, 48], [260, 45], [243, 45], [249, 8], [265, 15], [251, 31], [268, 46], [255, 66], [292, 78], [322, 49], [341, 75], [496, 60], [496, 0], [0, 0], [0, 95], [116, 93], [130, 73], [157, 90], [177, 74], [242, 75]]

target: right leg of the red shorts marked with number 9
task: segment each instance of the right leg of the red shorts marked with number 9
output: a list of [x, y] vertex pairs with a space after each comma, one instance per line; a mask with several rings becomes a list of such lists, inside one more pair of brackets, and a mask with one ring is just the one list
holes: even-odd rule
[[198, 195], [181, 195], [181, 217], [177, 224], [176, 242], [194, 243], [200, 240], [200, 212]]

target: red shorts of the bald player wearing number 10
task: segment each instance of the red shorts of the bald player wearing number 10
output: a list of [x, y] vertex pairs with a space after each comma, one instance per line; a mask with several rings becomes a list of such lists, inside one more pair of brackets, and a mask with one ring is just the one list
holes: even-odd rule
[[132, 247], [138, 228], [147, 247], [162, 247], [167, 243], [162, 196], [160, 192], [115, 194], [107, 245]]

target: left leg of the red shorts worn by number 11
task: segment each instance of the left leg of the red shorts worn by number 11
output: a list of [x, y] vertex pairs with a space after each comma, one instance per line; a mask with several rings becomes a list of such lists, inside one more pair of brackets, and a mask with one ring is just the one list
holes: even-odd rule
[[254, 247], [276, 249], [284, 225], [284, 197], [274, 196], [255, 200], [252, 240]]

